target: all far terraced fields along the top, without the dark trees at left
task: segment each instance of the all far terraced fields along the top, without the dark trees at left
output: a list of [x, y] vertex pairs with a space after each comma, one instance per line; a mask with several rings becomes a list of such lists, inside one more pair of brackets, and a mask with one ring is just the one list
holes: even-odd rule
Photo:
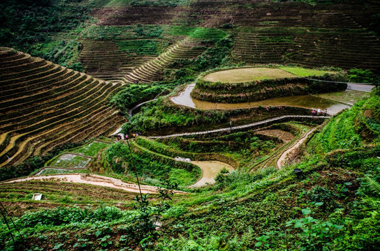
[[363, 28], [379, 6], [263, 0], [107, 6], [92, 12], [98, 22], [81, 35], [80, 60], [96, 77], [155, 82], [173, 61], [202, 54], [205, 41], [220, 38], [210, 31], [222, 29], [233, 34], [231, 56], [237, 62], [379, 70], [380, 42]]

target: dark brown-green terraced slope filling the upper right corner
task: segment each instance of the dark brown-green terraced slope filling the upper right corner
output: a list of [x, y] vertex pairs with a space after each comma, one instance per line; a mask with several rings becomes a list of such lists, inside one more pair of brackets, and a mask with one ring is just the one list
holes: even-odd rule
[[379, 13], [379, 1], [309, 5], [200, 0], [190, 8], [188, 22], [234, 26], [233, 56], [237, 61], [379, 70], [379, 40], [364, 28], [371, 15]]

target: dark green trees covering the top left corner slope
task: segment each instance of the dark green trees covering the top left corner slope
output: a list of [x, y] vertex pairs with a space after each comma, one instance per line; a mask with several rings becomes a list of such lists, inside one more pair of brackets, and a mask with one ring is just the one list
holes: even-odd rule
[[75, 70], [83, 70], [79, 61], [66, 64], [73, 53], [78, 53], [77, 42], [62, 41], [46, 53], [41, 51], [41, 46], [51, 42], [51, 33], [78, 28], [89, 16], [88, 6], [65, 11], [65, 3], [57, 4], [52, 0], [5, 0], [0, 3], [0, 8], [2, 10], [0, 12], [1, 46], [13, 47]]

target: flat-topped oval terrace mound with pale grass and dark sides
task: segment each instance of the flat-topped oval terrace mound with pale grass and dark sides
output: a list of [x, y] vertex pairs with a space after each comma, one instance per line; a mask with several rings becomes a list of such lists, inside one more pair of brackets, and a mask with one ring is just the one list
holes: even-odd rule
[[[304, 76], [316, 80], [307, 79]], [[221, 103], [251, 102], [282, 96], [328, 93], [346, 89], [333, 81], [337, 75], [303, 68], [238, 68], [222, 70], [198, 79], [191, 97]], [[319, 81], [322, 80], [322, 81]]]

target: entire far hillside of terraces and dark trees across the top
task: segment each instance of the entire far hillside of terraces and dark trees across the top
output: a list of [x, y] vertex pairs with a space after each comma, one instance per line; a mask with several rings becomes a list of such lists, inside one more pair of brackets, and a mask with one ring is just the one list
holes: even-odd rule
[[[379, 34], [374, 33], [379, 1], [47, 0], [43, 6], [26, 2], [29, 5], [10, 6], [3, 13], [8, 26], [0, 33], [2, 46], [104, 79], [161, 79], [173, 61], [196, 59], [212, 47], [217, 37], [206, 33], [193, 38], [193, 31], [200, 28], [230, 33], [235, 63], [380, 70]], [[17, 24], [12, 13], [17, 13]]]

